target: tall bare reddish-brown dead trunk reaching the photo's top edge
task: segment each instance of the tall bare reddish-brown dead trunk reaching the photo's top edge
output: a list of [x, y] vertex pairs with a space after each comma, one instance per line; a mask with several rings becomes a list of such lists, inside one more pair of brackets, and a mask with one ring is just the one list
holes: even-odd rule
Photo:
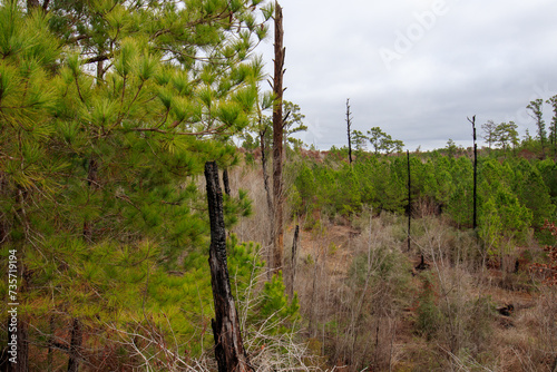
[[283, 231], [283, 117], [282, 117], [282, 100], [283, 100], [283, 76], [284, 76], [284, 55], [283, 47], [283, 16], [282, 8], [276, 2], [275, 6], [275, 60], [274, 60], [274, 79], [273, 92], [275, 94], [275, 102], [273, 107], [273, 204], [274, 204], [274, 237], [273, 237], [273, 261], [272, 270], [277, 272], [282, 267], [283, 248], [284, 248], [284, 231]]

